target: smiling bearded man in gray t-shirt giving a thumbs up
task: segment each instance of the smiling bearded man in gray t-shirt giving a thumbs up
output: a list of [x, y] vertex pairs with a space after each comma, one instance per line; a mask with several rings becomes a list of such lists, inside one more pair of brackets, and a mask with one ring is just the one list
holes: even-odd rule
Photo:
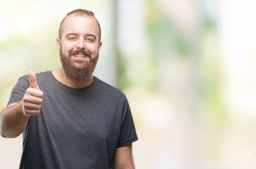
[[1, 112], [3, 137], [23, 132], [20, 168], [134, 168], [138, 138], [126, 96], [94, 77], [98, 20], [77, 9], [62, 20], [62, 68], [21, 77]]

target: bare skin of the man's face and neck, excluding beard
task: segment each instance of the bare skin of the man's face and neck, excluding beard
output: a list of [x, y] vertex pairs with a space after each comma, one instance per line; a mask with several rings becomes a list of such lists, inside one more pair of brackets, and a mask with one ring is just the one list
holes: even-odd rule
[[[97, 21], [93, 17], [69, 15], [62, 25], [62, 37], [57, 38], [57, 46], [62, 54], [69, 57], [69, 51], [85, 49], [91, 52], [91, 56], [95, 57], [102, 46], [102, 42], [98, 42], [99, 27]], [[71, 61], [79, 68], [83, 63], [89, 62], [88, 57], [71, 56]], [[79, 61], [79, 63], [78, 63]], [[73, 88], [87, 87], [93, 82], [93, 77], [86, 82], [78, 82], [73, 79], [68, 79], [63, 68], [53, 71], [54, 77], [60, 82]]]

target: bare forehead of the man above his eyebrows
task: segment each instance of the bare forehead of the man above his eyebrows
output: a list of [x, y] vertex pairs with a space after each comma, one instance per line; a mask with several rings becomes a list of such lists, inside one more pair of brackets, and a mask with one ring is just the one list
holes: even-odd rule
[[92, 16], [88, 15], [69, 15], [62, 23], [62, 36], [69, 33], [93, 34], [98, 37], [98, 23]]

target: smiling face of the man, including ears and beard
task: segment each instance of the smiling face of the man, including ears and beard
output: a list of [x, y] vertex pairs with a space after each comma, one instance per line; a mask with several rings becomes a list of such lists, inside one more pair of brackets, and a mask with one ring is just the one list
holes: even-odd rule
[[98, 32], [98, 23], [93, 17], [69, 15], [64, 20], [57, 45], [68, 78], [78, 81], [91, 78], [102, 45], [98, 42]]

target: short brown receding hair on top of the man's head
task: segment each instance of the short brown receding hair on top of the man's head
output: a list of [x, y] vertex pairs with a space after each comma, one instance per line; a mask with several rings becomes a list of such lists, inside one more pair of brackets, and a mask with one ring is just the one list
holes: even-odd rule
[[[59, 39], [62, 39], [62, 24], [64, 23], [64, 20], [66, 19], [66, 17], [68, 17], [69, 15], [72, 15], [72, 14], [75, 14], [76, 16], [77, 15], [86, 15], [86, 16], [91, 16], [91, 17], [95, 18], [94, 13], [92, 11], [88, 11], [86, 9], [78, 8], [78, 9], [75, 9], [74, 11], [69, 12], [68, 14], [66, 14], [65, 18], [63, 18], [62, 22], [59, 25]], [[96, 18], [95, 18], [95, 20], [97, 21], [98, 27], [100, 30], [99, 34], [98, 34], [98, 36], [99, 36], [98, 42], [100, 42], [100, 39], [101, 39], [100, 23], [98, 22], [98, 20]]]

